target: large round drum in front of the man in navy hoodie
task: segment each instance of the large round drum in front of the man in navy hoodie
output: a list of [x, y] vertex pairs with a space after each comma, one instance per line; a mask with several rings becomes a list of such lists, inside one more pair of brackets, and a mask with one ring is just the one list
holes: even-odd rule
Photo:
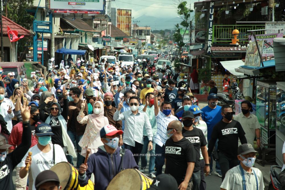
[[152, 179], [137, 169], [125, 169], [119, 172], [109, 183], [107, 190], [145, 190], [150, 187]]

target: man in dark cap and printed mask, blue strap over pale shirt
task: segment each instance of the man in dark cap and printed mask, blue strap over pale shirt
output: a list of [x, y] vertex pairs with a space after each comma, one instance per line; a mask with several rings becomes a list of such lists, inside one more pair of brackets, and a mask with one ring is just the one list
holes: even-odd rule
[[256, 160], [256, 152], [249, 143], [239, 146], [237, 159], [239, 159], [240, 164], [227, 171], [225, 179], [220, 186], [221, 190], [264, 189], [262, 172], [258, 168], [253, 167]]

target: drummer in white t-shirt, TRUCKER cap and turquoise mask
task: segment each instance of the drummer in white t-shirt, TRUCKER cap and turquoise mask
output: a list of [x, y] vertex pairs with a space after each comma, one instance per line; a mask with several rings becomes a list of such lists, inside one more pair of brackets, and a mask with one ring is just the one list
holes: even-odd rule
[[[67, 162], [64, 151], [62, 147], [58, 144], [51, 143], [52, 128], [49, 124], [42, 123], [36, 127], [36, 138], [38, 144], [31, 147], [22, 162], [18, 165], [20, 169], [20, 177], [24, 178], [27, 175], [25, 166], [30, 164], [30, 171], [32, 173], [32, 178], [35, 179], [36, 176], [44, 170], [50, 169], [57, 163]], [[32, 156], [28, 156], [28, 152], [32, 152]], [[33, 181], [33, 190], [36, 190], [35, 181]]]

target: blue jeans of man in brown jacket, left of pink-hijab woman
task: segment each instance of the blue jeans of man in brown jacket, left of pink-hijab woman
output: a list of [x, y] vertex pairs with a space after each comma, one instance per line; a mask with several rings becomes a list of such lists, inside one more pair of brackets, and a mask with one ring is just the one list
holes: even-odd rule
[[[76, 133], [72, 131], [67, 131], [67, 134], [71, 140], [71, 142], [74, 144], [74, 147], [76, 147], [77, 151], [77, 162], [76, 162], [76, 168], [78, 169], [81, 164], [84, 163], [85, 157], [80, 155], [82, 148], [78, 145], [80, 139], [83, 137], [83, 135], [76, 135]], [[75, 145], [76, 142], [76, 145]], [[72, 155], [66, 155], [67, 161], [73, 165], [73, 156]]]

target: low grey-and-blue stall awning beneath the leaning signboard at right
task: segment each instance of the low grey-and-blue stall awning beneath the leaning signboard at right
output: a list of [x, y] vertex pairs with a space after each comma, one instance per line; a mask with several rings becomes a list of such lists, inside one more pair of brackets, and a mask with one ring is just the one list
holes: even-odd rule
[[260, 73], [259, 69], [275, 66], [275, 60], [272, 59], [272, 60], [264, 61], [263, 65], [264, 66], [260, 66], [260, 67], [244, 65], [244, 66], [241, 66], [239, 68], [235, 68], [235, 71], [243, 73], [243, 74], [248, 74], [248, 75], [251, 75], [251, 76], [256, 76], [256, 75], [258, 75]]

